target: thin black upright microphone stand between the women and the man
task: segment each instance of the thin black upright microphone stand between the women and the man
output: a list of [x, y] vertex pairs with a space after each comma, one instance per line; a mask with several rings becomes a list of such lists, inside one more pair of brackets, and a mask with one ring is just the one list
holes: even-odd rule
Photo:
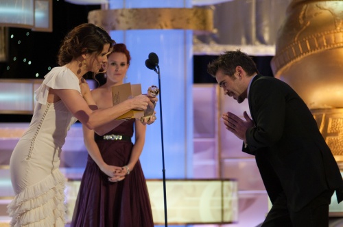
[[[157, 68], [157, 70], [156, 70]], [[162, 144], [162, 172], [163, 172], [163, 200], [165, 202], [165, 227], [168, 226], [167, 222], [167, 193], [165, 189], [165, 152], [164, 152], [164, 146], [163, 146], [163, 120], [162, 120], [162, 97], [161, 97], [161, 74], [160, 74], [160, 67], [158, 64], [156, 64], [156, 68], [154, 68], [154, 71], [158, 75], [158, 88], [160, 89], [160, 92], [158, 92], [158, 97], [160, 98], [160, 122], [161, 122], [161, 144]]]

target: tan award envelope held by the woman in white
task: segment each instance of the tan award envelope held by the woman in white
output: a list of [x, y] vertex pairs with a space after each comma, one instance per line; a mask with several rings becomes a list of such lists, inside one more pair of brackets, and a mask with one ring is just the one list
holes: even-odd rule
[[[141, 84], [131, 84], [123, 83], [121, 85], [116, 85], [112, 87], [112, 98], [113, 105], [117, 105], [123, 101], [126, 101], [128, 98], [132, 98], [142, 94]], [[143, 110], [130, 110], [116, 118], [117, 120], [130, 119], [130, 118], [141, 118], [144, 116]]]

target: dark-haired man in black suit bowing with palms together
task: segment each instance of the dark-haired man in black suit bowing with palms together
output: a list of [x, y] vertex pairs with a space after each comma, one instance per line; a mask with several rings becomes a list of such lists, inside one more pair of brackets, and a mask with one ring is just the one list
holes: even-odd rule
[[228, 131], [255, 155], [272, 202], [263, 227], [329, 226], [333, 191], [343, 200], [343, 181], [335, 159], [307, 105], [287, 83], [259, 75], [241, 51], [227, 51], [208, 72], [224, 93], [242, 103], [248, 98], [252, 119], [230, 112], [222, 118]]

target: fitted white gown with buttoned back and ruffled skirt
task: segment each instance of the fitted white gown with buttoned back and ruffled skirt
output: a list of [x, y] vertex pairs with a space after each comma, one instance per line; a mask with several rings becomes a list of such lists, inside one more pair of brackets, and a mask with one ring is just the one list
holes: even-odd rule
[[[62, 101], [47, 103], [49, 88], [80, 92], [79, 79], [67, 67], [53, 68], [36, 90], [36, 106], [29, 129], [10, 159], [16, 196], [8, 205], [11, 226], [64, 226], [64, 175], [60, 152], [76, 118]], [[81, 92], [80, 92], [81, 95]]]

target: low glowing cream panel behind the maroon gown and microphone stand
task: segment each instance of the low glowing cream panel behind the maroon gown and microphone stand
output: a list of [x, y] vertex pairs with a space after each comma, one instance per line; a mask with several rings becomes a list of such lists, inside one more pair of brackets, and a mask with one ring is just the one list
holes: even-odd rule
[[[168, 224], [229, 224], [238, 220], [237, 181], [166, 180]], [[67, 183], [67, 222], [80, 181]], [[165, 223], [163, 181], [147, 180], [154, 224]]]

